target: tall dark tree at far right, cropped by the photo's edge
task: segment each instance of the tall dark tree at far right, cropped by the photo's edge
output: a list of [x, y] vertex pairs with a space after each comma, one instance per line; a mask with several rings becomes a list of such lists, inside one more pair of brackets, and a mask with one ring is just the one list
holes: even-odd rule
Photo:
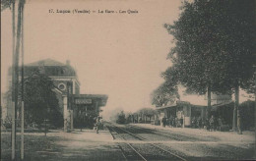
[[[229, 55], [225, 75], [229, 79], [235, 94], [235, 106], [233, 113], [233, 122], [237, 122], [238, 133], [241, 134], [240, 109], [239, 105], [239, 87], [253, 80], [256, 64], [255, 48], [255, 1], [232, 1], [226, 10], [229, 19], [226, 21], [228, 27], [224, 28], [227, 37], [223, 48]], [[230, 33], [230, 29], [233, 31]], [[246, 88], [245, 88], [246, 89]], [[252, 89], [251, 87], [247, 90]], [[235, 110], [237, 114], [235, 114]], [[237, 119], [235, 119], [237, 116]], [[237, 120], [237, 121], [236, 121]], [[233, 130], [235, 130], [233, 124]]]

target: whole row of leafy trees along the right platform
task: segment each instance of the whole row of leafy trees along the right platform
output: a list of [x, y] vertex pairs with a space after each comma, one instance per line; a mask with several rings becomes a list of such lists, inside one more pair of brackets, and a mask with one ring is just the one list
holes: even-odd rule
[[211, 92], [234, 93], [232, 128], [241, 134], [239, 88], [256, 94], [255, 6], [253, 0], [185, 1], [179, 19], [164, 25], [173, 36], [167, 55], [172, 66], [162, 73], [165, 81], [153, 92], [152, 103], [178, 98], [182, 84], [187, 93], [208, 95], [209, 117]]

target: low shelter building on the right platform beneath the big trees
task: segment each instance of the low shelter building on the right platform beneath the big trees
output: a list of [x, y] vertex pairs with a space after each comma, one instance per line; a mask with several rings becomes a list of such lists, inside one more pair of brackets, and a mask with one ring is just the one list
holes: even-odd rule
[[[183, 123], [182, 125], [180, 125], [181, 127], [191, 127], [193, 118], [200, 117], [202, 120], [206, 119], [206, 96], [195, 96], [195, 99], [192, 99], [190, 101], [187, 101], [185, 97], [183, 98], [183, 101], [181, 99], [175, 101], [172, 104], [156, 107], [156, 110], [159, 111], [159, 114], [156, 116], [156, 119], [182, 119]], [[222, 116], [224, 120], [226, 120], [226, 122], [231, 122], [230, 117], [228, 117], [232, 111], [232, 108], [229, 108], [230, 104], [232, 104], [231, 95], [212, 93], [212, 108], [210, 111], [210, 115], [215, 115], [216, 117]]]

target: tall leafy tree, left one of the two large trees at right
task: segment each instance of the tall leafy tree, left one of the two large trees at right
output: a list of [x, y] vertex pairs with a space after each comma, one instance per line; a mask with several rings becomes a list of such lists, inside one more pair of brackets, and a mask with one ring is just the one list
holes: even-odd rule
[[209, 111], [211, 91], [214, 80], [218, 78], [217, 68], [221, 67], [215, 44], [216, 9], [207, 0], [201, 0], [185, 2], [182, 10], [174, 25], [164, 26], [173, 35], [175, 42], [168, 58], [176, 65], [180, 73], [179, 80], [187, 87], [187, 91], [198, 94], [208, 91]]

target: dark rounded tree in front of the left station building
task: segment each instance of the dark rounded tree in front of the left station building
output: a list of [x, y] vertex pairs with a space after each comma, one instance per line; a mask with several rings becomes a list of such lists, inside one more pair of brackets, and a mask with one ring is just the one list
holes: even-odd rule
[[58, 104], [53, 81], [47, 76], [35, 73], [25, 79], [25, 121], [41, 125], [44, 120], [55, 127], [63, 126], [63, 117]]

